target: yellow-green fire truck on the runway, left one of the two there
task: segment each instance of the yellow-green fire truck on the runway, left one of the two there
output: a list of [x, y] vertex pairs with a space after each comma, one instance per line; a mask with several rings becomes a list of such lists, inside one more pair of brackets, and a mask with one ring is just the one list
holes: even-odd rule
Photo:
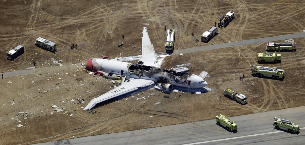
[[230, 132], [237, 130], [237, 124], [225, 115], [217, 115], [216, 116], [216, 124], [225, 127]]

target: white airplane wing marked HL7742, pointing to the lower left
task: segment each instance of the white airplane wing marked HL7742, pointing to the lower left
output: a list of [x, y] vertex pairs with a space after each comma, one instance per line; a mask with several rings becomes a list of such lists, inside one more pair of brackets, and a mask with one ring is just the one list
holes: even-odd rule
[[89, 104], [84, 108], [84, 110], [90, 110], [92, 109], [96, 104], [106, 101], [108, 99], [124, 95], [126, 93], [129, 93], [131, 91], [138, 90], [139, 88], [143, 88], [149, 85], [154, 84], [154, 81], [151, 80], [144, 80], [144, 79], [129, 79], [128, 81], [125, 81], [121, 85], [119, 85], [117, 88], [114, 88], [107, 93], [92, 99]]

